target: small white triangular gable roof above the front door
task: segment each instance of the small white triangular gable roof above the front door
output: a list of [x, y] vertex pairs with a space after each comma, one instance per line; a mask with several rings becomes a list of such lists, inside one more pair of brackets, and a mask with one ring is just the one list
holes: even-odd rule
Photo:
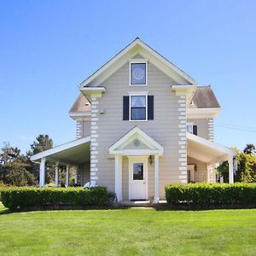
[[[143, 142], [144, 145], [148, 146], [148, 149], [125, 149], [125, 146], [129, 145], [134, 139], [138, 139]], [[128, 131], [123, 137], [108, 148], [109, 154], [129, 154], [129, 155], [140, 155], [140, 154], [163, 154], [164, 148], [154, 141], [154, 139], [144, 131], [139, 129], [137, 126]]]

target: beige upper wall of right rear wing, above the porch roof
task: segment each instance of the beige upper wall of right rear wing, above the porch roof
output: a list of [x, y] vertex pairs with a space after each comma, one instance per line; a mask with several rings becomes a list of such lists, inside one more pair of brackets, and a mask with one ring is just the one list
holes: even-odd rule
[[187, 122], [197, 125], [197, 135], [199, 137], [213, 141], [213, 119], [188, 119]]

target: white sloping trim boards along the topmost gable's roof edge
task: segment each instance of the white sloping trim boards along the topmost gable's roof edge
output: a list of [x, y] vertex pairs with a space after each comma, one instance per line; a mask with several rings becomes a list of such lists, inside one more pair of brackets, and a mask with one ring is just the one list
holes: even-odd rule
[[[108, 69], [108, 67], [111, 67], [114, 62], [118, 61], [122, 56], [127, 54], [132, 48], [135, 48], [135, 46], [140, 45], [143, 49], [146, 49], [149, 54], [154, 55], [154, 57], [166, 65], [166, 67], [172, 69], [175, 73], [177, 73], [180, 77], [187, 80], [191, 84], [196, 84], [195, 79], [192, 79], [189, 77], [188, 74], [184, 73], [182, 70], [180, 70], [178, 67], [172, 64], [172, 62], [167, 61], [166, 58], [164, 58], [162, 55], [157, 53], [154, 49], [150, 48], [147, 44], [143, 43], [142, 40], [139, 38], [136, 38], [134, 41], [131, 42], [128, 46], [125, 47], [125, 49], [122, 49], [119, 54], [115, 55], [110, 61], [105, 63], [101, 68], [99, 68], [95, 73], [90, 75], [89, 78], [85, 79], [81, 84], [79, 84], [79, 88], [83, 88], [85, 85], [89, 84], [93, 79], [96, 79], [100, 74], [102, 74], [104, 71]], [[123, 62], [119, 61], [119, 64], [124, 64]], [[166, 72], [165, 72], [166, 73]], [[102, 80], [108, 78], [108, 76], [102, 78]]]

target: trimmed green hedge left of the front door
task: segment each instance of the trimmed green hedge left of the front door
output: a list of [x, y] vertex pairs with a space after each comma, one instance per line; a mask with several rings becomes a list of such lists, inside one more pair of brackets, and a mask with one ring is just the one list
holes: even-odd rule
[[84, 188], [35, 188], [10, 187], [1, 189], [1, 201], [10, 209], [44, 206], [103, 206], [113, 194], [104, 187]]

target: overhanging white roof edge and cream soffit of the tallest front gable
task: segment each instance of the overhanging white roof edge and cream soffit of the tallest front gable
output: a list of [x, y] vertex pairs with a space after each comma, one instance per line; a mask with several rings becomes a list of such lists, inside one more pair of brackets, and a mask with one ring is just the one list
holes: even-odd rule
[[[143, 49], [145, 52], [151, 55], [152, 60], [151, 61], [160, 61], [161, 65], [163, 65], [162, 71], [166, 73], [167, 75], [170, 73], [177, 73], [178, 76], [183, 78], [187, 81], [187, 84], [196, 84], [195, 79], [192, 79], [187, 73], [184, 73], [183, 70], [176, 67], [171, 61], [166, 60], [166, 58], [162, 55], [160, 55], [158, 52], [156, 52], [154, 49], [152, 49], [148, 44], [145, 44], [140, 38], [135, 38], [131, 42], [131, 44], [128, 44], [124, 49], [122, 49], [117, 55], [114, 55], [112, 59], [110, 59], [107, 63], [105, 63], [102, 67], [100, 67], [95, 73], [92, 73], [90, 77], [85, 79], [81, 84], [79, 84], [79, 89], [84, 88], [85, 86], [88, 86], [88, 84], [92, 83], [98, 76], [100, 76], [102, 73], [106, 72], [108, 68], [112, 68], [113, 72], [117, 69], [117, 67], [113, 67], [114, 64], [118, 67], [121, 67], [124, 62], [120, 61], [120, 59], [128, 54], [129, 51], [132, 49]], [[134, 53], [134, 54], [137, 54]], [[126, 60], [127, 61], [127, 60]], [[157, 67], [160, 67], [160, 65], [157, 65]], [[169, 70], [169, 72], [168, 72]], [[112, 73], [108, 73], [108, 75], [111, 75]], [[104, 79], [107, 79], [108, 77], [105, 77]], [[104, 80], [102, 79], [102, 80]], [[97, 86], [98, 84], [90, 84], [90, 86]]]

